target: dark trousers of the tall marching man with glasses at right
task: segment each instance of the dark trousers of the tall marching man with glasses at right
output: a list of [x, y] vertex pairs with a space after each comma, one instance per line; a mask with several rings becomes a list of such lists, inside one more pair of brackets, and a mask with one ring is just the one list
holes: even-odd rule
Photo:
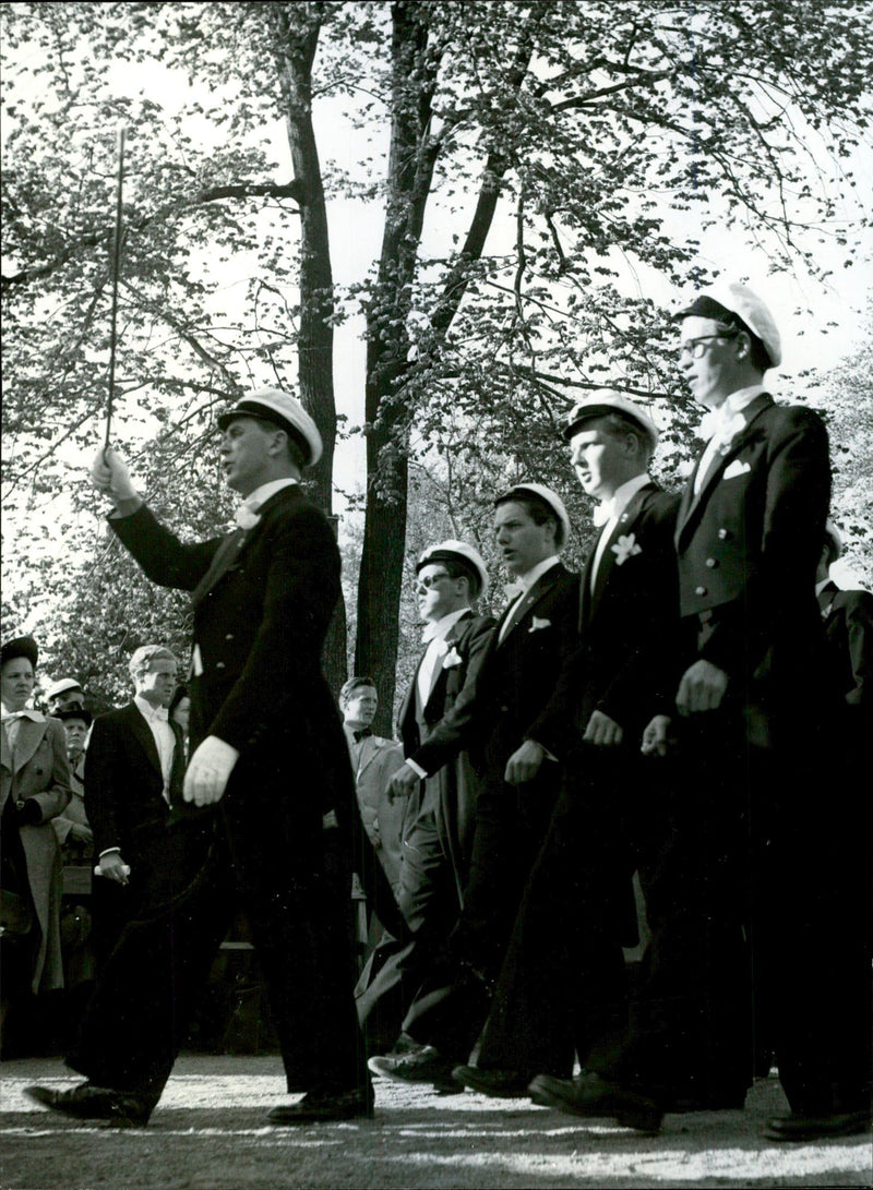
[[855, 878], [846, 818], [812, 793], [813, 728], [786, 752], [749, 745], [730, 707], [685, 725], [669, 833], [643, 882], [643, 1010], [617, 1050], [590, 1054], [591, 1069], [656, 1098], [678, 1066], [700, 1072], [704, 1091], [707, 1071], [743, 1085], [760, 1028], [794, 1111], [862, 1104], [869, 909], [841, 872], [847, 863]]

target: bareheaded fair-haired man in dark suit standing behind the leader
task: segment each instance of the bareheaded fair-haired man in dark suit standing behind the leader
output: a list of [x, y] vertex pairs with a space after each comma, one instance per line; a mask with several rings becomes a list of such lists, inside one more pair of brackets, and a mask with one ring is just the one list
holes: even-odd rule
[[[170, 806], [182, 795], [185, 741], [167, 707], [177, 660], [163, 645], [143, 645], [127, 669], [133, 699], [99, 715], [85, 759], [85, 810], [94, 835], [98, 878], [92, 898], [98, 966], [125, 922], [149, 903], [170, 900], [182, 873], [169, 862]], [[98, 875], [98, 872], [95, 872]]]

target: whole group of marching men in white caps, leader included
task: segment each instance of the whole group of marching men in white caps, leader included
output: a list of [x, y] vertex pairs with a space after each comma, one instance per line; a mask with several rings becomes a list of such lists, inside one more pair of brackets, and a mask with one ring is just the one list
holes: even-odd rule
[[[110, 526], [150, 578], [192, 591], [183, 844], [177, 895], [125, 931], [68, 1058], [87, 1082], [35, 1098], [148, 1121], [242, 896], [288, 1091], [304, 1092], [274, 1125], [370, 1116], [375, 1073], [656, 1132], [666, 1111], [742, 1106], [773, 1060], [791, 1114], [769, 1138], [869, 1126], [873, 597], [828, 581], [828, 436], [763, 384], [781, 357], [763, 302], [729, 284], [676, 318], [706, 409], [679, 495], [649, 478], [651, 419], [603, 390], [565, 430], [597, 502], [581, 575], [560, 560], [561, 500], [534, 482], [494, 501], [516, 583], [497, 622], [474, 610], [475, 550], [418, 559], [425, 647], [391, 776], [406, 803], [393, 890], [361, 860], [348, 756], [373, 746], [367, 715], [347, 743], [320, 674], [339, 588], [298, 483], [320, 455], [314, 424], [276, 389], [219, 419], [244, 500], [238, 528], [199, 545], [101, 453]], [[325, 815], [387, 926], [354, 997]], [[635, 873], [650, 938], [631, 988]]]

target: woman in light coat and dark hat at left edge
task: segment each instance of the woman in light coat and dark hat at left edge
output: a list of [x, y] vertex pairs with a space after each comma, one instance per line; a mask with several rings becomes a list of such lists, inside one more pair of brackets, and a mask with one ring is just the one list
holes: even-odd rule
[[51, 820], [70, 800], [70, 768], [61, 724], [27, 707], [37, 658], [32, 637], [0, 646], [4, 1017], [6, 1007], [63, 987], [63, 873]]

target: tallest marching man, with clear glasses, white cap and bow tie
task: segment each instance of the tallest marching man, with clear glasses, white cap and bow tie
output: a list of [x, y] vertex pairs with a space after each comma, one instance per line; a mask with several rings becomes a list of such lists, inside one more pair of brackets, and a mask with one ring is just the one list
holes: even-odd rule
[[[755, 998], [791, 1106], [765, 1135], [861, 1132], [869, 1127], [869, 889], [859, 903], [846, 870], [869, 840], [858, 843], [854, 794], [828, 782], [837, 706], [815, 601], [828, 436], [811, 409], [777, 405], [767, 392], [779, 332], [750, 289], [719, 286], [678, 317], [680, 364], [709, 412], [675, 537], [688, 813], [662, 857], [672, 897], [644, 958], [643, 995], [659, 1012], [623, 1045], [595, 1047], [575, 1079], [535, 1078], [532, 1097], [656, 1128], [662, 1071], [694, 978], [688, 957], [710, 960], [707, 919], [716, 938], [732, 921], [750, 940]], [[827, 804], [810, 800], [825, 788]], [[690, 878], [694, 870], [700, 879]], [[709, 1022], [713, 1034], [722, 1026]]]

